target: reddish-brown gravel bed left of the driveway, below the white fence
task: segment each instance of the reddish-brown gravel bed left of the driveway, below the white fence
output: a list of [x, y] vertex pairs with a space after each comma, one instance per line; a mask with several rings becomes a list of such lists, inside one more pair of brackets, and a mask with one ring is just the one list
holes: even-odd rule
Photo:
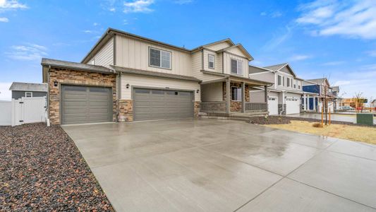
[[0, 126], [0, 211], [114, 211], [60, 126]]

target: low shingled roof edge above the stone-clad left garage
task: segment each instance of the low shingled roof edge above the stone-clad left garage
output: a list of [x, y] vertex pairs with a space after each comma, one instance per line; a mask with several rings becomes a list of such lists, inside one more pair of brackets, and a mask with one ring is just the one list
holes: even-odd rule
[[92, 72], [100, 72], [100, 73], [114, 73], [111, 69], [108, 69], [104, 66], [95, 66], [90, 64], [81, 64], [75, 63], [71, 61], [63, 61], [57, 59], [47, 59], [42, 58], [42, 66], [51, 66], [55, 68], [61, 69], [75, 69], [80, 71], [92, 71]]

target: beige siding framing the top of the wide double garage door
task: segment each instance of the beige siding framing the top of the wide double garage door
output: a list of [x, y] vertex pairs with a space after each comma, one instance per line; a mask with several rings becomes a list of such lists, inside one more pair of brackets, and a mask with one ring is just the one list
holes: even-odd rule
[[[126, 88], [126, 84], [130, 87]], [[195, 95], [195, 101], [200, 101], [200, 93], [196, 93], [196, 90], [200, 90], [200, 84], [193, 81], [181, 81], [169, 78], [158, 78], [152, 76], [137, 76], [133, 74], [121, 75], [121, 99], [132, 99], [132, 88], [159, 88], [166, 90], [192, 90]]]

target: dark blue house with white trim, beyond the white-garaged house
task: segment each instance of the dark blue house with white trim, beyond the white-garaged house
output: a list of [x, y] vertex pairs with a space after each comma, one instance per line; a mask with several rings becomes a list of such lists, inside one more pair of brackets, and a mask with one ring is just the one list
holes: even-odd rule
[[333, 93], [333, 88], [330, 87], [327, 78], [315, 78], [303, 81], [303, 91], [316, 94], [315, 96], [303, 96], [303, 105], [307, 105], [307, 107], [303, 107], [306, 108], [305, 110], [322, 112], [324, 100], [327, 100], [328, 110], [331, 112], [334, 112], [335, 108], [336, 110], [339, 109], [338, 107], [335, 107], [335, 105], [337, 105], [336, 95], [339, 93], [339, 88], [336, 88]]

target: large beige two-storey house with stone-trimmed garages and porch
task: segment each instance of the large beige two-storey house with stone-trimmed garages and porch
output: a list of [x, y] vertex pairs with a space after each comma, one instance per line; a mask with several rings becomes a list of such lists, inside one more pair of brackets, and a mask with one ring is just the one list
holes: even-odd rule
[[80, 63], [42, 59], [51, 124], [197, 117], [199, 112], [267, 112], [250, 103], [253, 60], [241, 44], [220, 40], [195, 49], [109, 28]]

